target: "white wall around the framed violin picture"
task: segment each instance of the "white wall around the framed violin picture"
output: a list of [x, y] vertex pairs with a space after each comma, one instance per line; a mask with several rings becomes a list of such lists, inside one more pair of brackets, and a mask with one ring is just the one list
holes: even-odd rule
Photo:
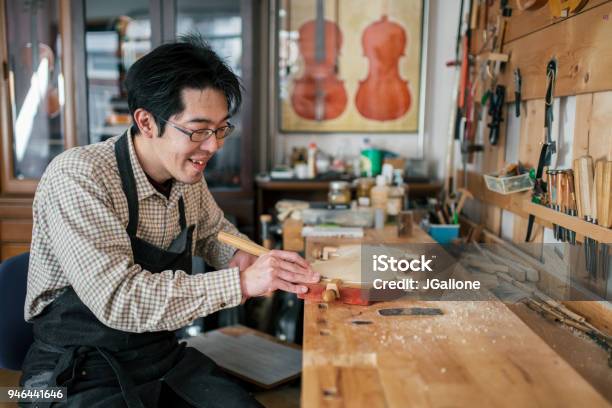
[[[427, 45], [423, 148], [429, 174], [435, 179], [441, 179], [444, 174], [448, 117], [451, 105], [450, 90], [453, 86], [454, 77], [453, 69], [447, 68], [445, 64], [452, 60], [455, 55], [459, 5], [459, 1], [429, 1], [429, 44]], [[269, 19], [270, 15], [262, 16], [262, 18], [264, 20]], [[266, 27], [267, 25], [262, 26]], [[268, 76], [268, 78], [270, 77]], [[274, 106], [272, 98], [268, 97], [262, 102], [265, 103], [264, 106]], [[265, 111], [262, 114], [269, 122], [268, 112]], [[369, 137], [375, 146], [396, 152], [401, 156], [420, 156], [416, 134], [282, 134], [276, 130], [277, 126], [270, 123], [268, 123], [267, 129], [269, 129], [267, 134], [271, 134], [268, 141], [269, 146], [260, 153], [267, 154], [268, 163], [272, 165], [285, 161], [293, 147], [307, 146], [310, 142], [317, 143], [319, 147], [330, 154], [337, 154], [338, 152], [349, 155], [357, 154], [364, 137]], [[260, 168], [260, 170], [264, 169]]]

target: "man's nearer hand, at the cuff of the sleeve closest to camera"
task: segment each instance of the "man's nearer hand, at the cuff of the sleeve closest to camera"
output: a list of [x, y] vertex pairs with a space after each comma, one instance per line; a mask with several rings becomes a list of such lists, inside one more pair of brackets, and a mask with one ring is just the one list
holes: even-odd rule
[[276, 289], [292, 293], [306, 293], [300, 283], [315, 283], [321, 277], [308, 262], [295, 252], [272, 250], [255, 263], [240, 271], [242, 296], [262, 296]]

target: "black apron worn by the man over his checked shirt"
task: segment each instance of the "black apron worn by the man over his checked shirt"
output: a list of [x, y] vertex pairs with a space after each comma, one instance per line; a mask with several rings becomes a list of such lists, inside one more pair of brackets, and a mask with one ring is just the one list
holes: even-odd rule
[[[180, 269], [191, 274], [194, 226], [186, 225], [183, 198], [181, 232], [167, 250], [138, 238], [138, 196], [127, 134], [117, 140], [115, 156], [128, 202], [126, 230], [134, 262], [152, 273]], [[43, 380], [47, 386], [67, 387], [68, 406], [157, 407], [165, 387], [195, 407], [261, 406], [211, 359], [179, 343], [173, 332], [112, 329], [95, 317], [72, 287], [33, 324], [34, 343], [24, 361], [22, 385], [41, 386]]]

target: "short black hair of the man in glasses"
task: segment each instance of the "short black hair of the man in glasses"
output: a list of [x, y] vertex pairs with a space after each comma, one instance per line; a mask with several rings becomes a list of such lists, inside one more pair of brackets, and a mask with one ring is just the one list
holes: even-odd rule
[[127, 72], [125, 88], [134, 135], [138, 133], [134, 112], [142, 108], [153, 115], [161, 136], [166, 123], [159, 119], [168, 120], [185, 110], [183, 89], [223, 92], [230, 116], [242, 102], [240, 79], [199, 34], [193, 33], [160, 45], [136, 61]]

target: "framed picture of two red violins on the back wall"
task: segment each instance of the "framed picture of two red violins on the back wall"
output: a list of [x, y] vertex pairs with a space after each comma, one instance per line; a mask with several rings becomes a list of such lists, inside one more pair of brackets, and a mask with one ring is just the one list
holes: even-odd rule
[[281, 132], [421, 133], [424, 0], [279, 0]]

